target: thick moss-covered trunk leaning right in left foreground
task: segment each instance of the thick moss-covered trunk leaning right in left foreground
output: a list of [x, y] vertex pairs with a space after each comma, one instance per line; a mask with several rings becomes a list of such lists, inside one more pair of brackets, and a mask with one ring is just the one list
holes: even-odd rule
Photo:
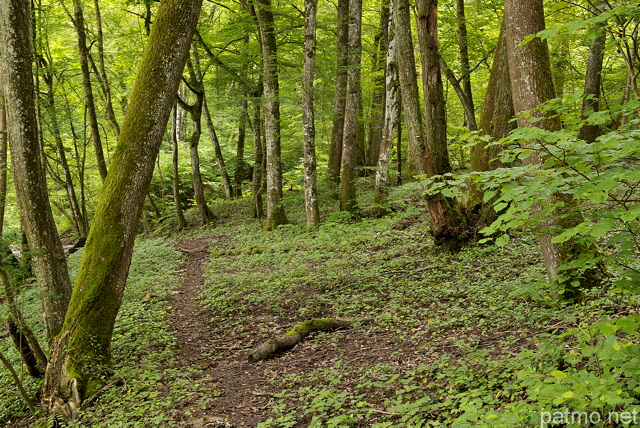
[[54, 412], [74, 416], [104, 381], [136, 229], [201, 5], [163, 0], [158, 7], [64, 328], [51, 347], [43, 401]]

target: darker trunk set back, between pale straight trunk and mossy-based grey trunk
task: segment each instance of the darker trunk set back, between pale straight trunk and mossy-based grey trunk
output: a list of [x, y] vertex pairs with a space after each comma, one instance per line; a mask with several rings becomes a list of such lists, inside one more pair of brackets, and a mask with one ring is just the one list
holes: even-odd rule
[[[336, 32], [336, 89], [333, 96], [333, 127], [329, 148], [329, 178], [333, 185], [340, 185], [342, 164], [342, 140], [344, 115], [347, 103], [347, 65], [349, 62], [349, 0], [338, 0], [338, 25]], [[338, 196], [338, 193], [336, 193]]]

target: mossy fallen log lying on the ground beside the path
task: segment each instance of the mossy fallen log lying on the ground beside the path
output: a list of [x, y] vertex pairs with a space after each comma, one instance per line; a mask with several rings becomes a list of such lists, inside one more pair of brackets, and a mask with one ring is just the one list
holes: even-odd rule
[[305, 337], [316, 331], [334, 331], [350, 328], [356, 323], [368, 324], [371, 318], [312, 318], [296, 325], [283, 336], [267, 340], [256, 347], [248, 356], [249, 362], [262, 361], [276, 352], [288, 351], [302, 342]]

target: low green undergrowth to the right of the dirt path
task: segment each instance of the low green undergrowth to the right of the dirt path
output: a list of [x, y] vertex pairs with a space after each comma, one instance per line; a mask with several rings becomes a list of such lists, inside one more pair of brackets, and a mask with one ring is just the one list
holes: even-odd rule
[[[237, 218], [216, 229], [202, 300], [221, 331], [375, 319], [361, 333], [372, 345], [363, 361], [336, 345], [340, 333], [319, 335], [311, 346], [335, 354], [328, 367], [271, 376], [280, 392], [259, 426], [524, 427], [553, 426], [554, 412], [569, 410], [632, 415], [637, 290], [611, 285], [563, 303], [528, 230], [506, 246], [438, 254], [413, 191], [398, 189], [383, 218], [325, 212], [313, 231], [294, 220], [262, 233]], [[381, 337], [393, 346], [376, 351]]]

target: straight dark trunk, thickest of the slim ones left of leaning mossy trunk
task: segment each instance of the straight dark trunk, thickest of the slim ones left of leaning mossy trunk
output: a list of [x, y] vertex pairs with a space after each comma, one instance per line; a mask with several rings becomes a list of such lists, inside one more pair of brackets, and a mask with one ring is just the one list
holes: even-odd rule
[[96, 105], [93, 99], [93, 88], [91, 87], [91, 75], [89, 73], [89, 60], [87, 51], [87, 35], [84, 28], [84, 16], [82, 14], [81, 0], [73, 0], [74, 25], [78, 34], [78, 52], [80, 54], [80, 70], [82, 71], [82, 86], [84, 87], [84, 97], [89, 116], [89, 126], [91, 128], [91, 139], [96, 152], [96, 162], [100, 178], [104, 182], [107, 177], [107, 163], [102, 151], [102, 140], [100, 138], [100, 126]]

